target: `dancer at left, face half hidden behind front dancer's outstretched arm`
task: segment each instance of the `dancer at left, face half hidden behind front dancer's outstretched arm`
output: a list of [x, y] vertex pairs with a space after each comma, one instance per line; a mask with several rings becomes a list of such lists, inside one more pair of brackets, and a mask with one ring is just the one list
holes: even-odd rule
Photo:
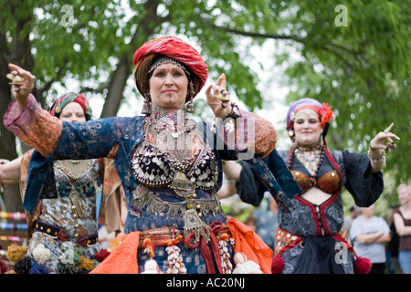
[[[91, 119], [90, 104], [83, 95], [69, 92], [53, 102], [49, 116], [68, 123], [84, 122]], [[47, 187], [54, 185], [57, 189], [57, 193], [49, 197], [32, 192], [39, 187], [36, 183], [45, 182], [39, 169], [46, 163], [51, 163], [54, 173], [54, 180], [47, 180]], [[0, 164], [0, 182], [20, 182], [23, 206], [26, 210], [33, 210], [26, 216], [29, 245], [26, 257], [22, 259], [26, 265], [16, 264], [16, 273], [90, 272], [98, 263], [93, 260], [100, 252], [100, 211], [102, 224], [106, 224], [105, 219], [109, 221], [111, 214], [114, 214], [106, 227], [113, 233], [120, 232], [120, 218], [116, 217], [115, 212], [105, 212], [105, 203], [121, 195], [122, 191], [120, 179], [109, 160], [52, 162], [31, 150], [12, 162]], [[48, 256], [39, 256], [41, 254]], [[74, 263], [70, 258], [75, 257], [82, 260]], [[38, 265], [46, 268], [28, 268]], [[17, 266], [27, 268], [18, 269]]]

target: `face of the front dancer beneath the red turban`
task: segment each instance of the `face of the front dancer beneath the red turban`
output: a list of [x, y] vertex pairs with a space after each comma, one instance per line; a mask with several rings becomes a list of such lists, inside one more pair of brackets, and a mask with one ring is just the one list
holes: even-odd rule
[[156, 67], [149, 80], [154, 105], [164, 110], [181, 110], [187, 97], [188, 78], [183, 68], [165, 63]]

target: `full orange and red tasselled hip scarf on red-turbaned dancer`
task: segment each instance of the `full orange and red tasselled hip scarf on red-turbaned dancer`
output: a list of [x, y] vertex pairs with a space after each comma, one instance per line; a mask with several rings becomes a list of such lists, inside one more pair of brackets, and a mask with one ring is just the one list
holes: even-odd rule
[[[158, 246], [167, 246], [170, 273], [184, 273], [183, 259], [179, 254], [180, 248], [177, 246], [182, 243], [188, 248], [200, 245], [199, 249], [205, 258], [207, 273], [231, 274], [234, 269], [230, 261], [227, 242], [233, 245], [235, 253], [247, 255], [248, 260], [258, 263], [264, 274], [270, 274], [272, 251], [247, 225], [236, 219], [229, 219], [227, 224], [215, 222], [208, 227], [211, 251], [203, 236], [199, 242], [194, 242], [195, 232], [184, 234], [183, 230], [174, 227], [134, 231], [123, 235], [121, 245], [92, 270], [91, 274], [138, 274], [137, 250], [144, 249], [144, 252], [153, 257], [154, 248]], [[214, 261], [211, 252], [215, 257]]]

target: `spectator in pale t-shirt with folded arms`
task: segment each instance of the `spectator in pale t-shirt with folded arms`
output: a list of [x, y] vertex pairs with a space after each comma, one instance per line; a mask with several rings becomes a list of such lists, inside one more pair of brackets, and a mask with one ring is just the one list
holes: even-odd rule
[[391, 232], [382, 217], [374, 216], [374, 204], [361, 208], [351, 225], [350, 237], [357, 255], [369, 258], [373, 264], [370, 274], [385, 274], [385, 244], [391, 240]]

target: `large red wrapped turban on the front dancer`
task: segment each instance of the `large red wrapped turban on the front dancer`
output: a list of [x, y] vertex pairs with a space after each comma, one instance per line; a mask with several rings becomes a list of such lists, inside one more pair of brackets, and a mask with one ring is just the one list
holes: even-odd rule
[[171, 57], [184, 64], [195, 74], [192, 79], [195, 94], [203, 88], [208, 76], [208, 67], [203, 57], [200, 56], [194, 47], [191, 47], [182, 39], [176, 36], [163, 36], [145, 43], [135, 51], [132, 60], [134, 64], [134, 78], [137, 89], [139, 89], [142, 96], [148, 93], [148, 71], [152, 65], [153, 58], [157, 55]]

